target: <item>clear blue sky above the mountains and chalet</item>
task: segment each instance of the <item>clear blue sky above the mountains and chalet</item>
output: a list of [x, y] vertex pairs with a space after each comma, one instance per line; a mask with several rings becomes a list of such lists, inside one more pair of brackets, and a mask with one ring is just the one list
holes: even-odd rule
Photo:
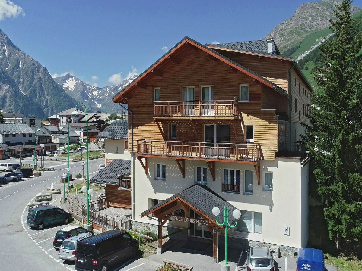
[[100, 87], [143, 72], [186, 35], [202, 44], [263, 38], [307, 2], [12, 1], [23, 12], [3, 18], [0, 29], [17, 47], [51, 74], [71, 72]]

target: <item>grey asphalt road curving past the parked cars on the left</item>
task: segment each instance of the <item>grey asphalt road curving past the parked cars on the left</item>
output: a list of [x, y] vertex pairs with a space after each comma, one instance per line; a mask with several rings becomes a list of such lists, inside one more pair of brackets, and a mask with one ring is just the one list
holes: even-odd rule
[[[1, 160], [1, 162], [18, 163], [17, 160]], [[31, 158], [25, 158], [23, 164], [31, 164]], [[89, 176], [95, 175], [103, 159], [89, 161]], [[21, 215], [25, 206], [39, 192], [46, 189], [52, 182], [59, 182], [60, 176], [66, 172], [67, 162], [45, 161], [45, 167], [54, 167], [55, 171], [43, 172], [42, 176], [24, 178], [21, 181], [9, 182], [0, 186], [0, 240], [2, 270], [65, 270], [64, 266], [48, 257], [22, 227]], [[71, 173], [82, 172], [81, 162], [70, 165]], [[0, 175], [5, 172], [0, 172]], [[25, 214], [26, 215], [26, 214]], [[26, 226], [26, 224], [25, 224]], [[28, 228], [28, 227], [25, 227]], [[37, 236], [37, 235], [35, 235]], [[38, 234], [42, 236], [42, 234]], [[46, 250], [52, 247], [52, 240], [43, 242]]]

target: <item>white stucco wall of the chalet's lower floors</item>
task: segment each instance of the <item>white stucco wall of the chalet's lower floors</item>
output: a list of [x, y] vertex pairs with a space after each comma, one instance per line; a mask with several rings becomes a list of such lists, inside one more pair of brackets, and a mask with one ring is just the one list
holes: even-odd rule
[[[148, 173], [138, 160], [135, 162], [135, 217], [137, 221], [155, 223], [149, 218], [140, 218], [140, 213], [150, 208], [150, 199], [164, 200], [181, 192], [195, 183], [195, 166], [207, 167], [205, 161], [185, 160], [185, 178], [173, 159], [148, 158]], [[155, 180], [156, 163], [166, 164], [166, 180]], [[241, 171], [241, 193], [222, 192], [223, 169], [232, 168]], [[244, 195], [244, 171], [253, 171], [253, 195]], [[264, 191], [264, 172], [273, 173], [273, 191]], [[303, 172], [303, 174], [302, 174]], [[300, 165], [298, 159], [277, 159], [261, 162], [261, 184], [258, 185], [256, 173], [252, 164], [215, 162], [215, 181], [212, 181], [208, 169], [207, 185], [236, 208], [240, 210], [262, 213], [262, 234], [250, 236], [232, 232], [234, 236], [248, 238], [254, 241], [263, 241], [273, 244], [300, 247], [306, 244], [305, 235], [308, 229], [308, 186], [305, 182], [306, 167]], [[305, 190], [301, 192], [301, 189]], [[303, 196], [303, 200], [302, 200]], [[302, 208], [302, 203], [304, 207]], [[272, 211], [269, 211], [272, 206]], [[222, 206], [219, 206], [222, 207]], [[303, 214], [302, 214], [303, 212]], [[302, 217], [306, 221], [302, 221]], [[188, 227], [186, 223], [173, 225]], [[284, 234], [284, 226], [290, 227], [290, 235]], [[303, 240], [302, 240], [303, 236]]]

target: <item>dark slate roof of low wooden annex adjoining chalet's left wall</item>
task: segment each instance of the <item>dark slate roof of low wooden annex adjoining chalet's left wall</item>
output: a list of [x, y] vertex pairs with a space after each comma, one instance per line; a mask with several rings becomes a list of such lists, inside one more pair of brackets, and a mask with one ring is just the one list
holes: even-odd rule
[[131, 173], [131, 160], [114, 159], [104, 169], [98, 172], [89, 182], [94, 184], [118, 185], [118, 175]]

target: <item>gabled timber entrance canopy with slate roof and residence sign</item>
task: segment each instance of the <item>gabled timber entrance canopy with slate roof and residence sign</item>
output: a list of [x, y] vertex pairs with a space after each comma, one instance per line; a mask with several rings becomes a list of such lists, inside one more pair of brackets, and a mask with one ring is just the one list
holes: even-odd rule
[[[206, 185], [195, 184], [181, 191], [180, 193], [174, 194], [172, 197], [165, 199], [159, 204], [153, 206], [141, 213], [141, 217], [150, 215], [153, 213], [153, 216], [165, 220], [178, 220], [189, 223], [195, 223], [193, 218], [189, 218], [189, 210], [193, 210], [202, 216], [203, 219], [198, 220], [200, 224], [204, 224], [209, 227], [218, 227], [222, 228], [215, 223], [215, 216], [212, 214], [213, 207], [220, 208], [220, 214], [217, 216], [218, 222], [223, 223], [224, 221], [224, 206], [229, 208], [229, 223], [231, 225], [235, 224], [235, 218], [232, 215], [232, 212], [236, 209], [225, 199], [220, 197], [214, 191], [212, 191]], [[184, 216], [178, 216], [177, 212], [172, 215], [172, 212], [182, 209], [185, 211]]]

